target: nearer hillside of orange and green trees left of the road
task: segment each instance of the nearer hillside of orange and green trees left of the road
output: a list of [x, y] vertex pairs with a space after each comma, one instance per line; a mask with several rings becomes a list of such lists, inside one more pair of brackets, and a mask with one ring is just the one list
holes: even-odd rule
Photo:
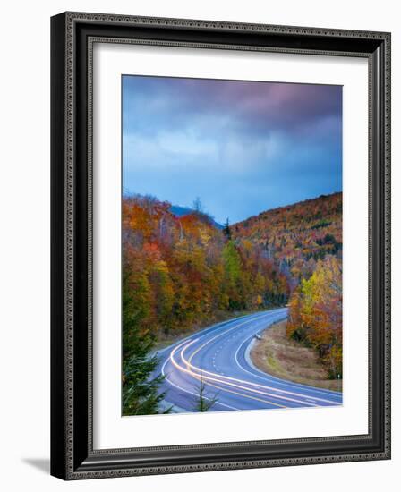
[[157, 337], [289, 295], [286, 276], [259, 246], [236, 243], [206, 214], [175, 216], [170, 203], [140, 195], [123, 200], [123, 267], [136, 324]]

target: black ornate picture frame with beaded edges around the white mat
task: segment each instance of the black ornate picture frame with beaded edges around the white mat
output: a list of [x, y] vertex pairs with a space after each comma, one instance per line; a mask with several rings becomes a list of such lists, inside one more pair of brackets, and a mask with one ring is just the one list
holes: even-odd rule
[[[140, 40], [369, 60], [369, 434], [96, 450], [91, 429], [91, 48]], [[61, 13], [51, 19], [51, 474], [95, 479], [390, 458], [390, 34]], [[368, 322], [368, 320], [367, 320]]]

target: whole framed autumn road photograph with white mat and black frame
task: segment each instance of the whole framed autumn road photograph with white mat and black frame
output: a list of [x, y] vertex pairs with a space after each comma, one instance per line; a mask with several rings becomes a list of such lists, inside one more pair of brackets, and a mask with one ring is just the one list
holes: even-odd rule
[[388, 459], [390, 34], [51, 36], [51, 473]]

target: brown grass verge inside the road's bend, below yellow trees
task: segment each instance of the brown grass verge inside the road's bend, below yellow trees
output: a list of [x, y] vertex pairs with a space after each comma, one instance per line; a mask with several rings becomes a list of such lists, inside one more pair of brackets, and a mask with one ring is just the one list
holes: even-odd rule
[[279, 321], [253, 344], [254, 365], [272, 376], [294, 383], [342, 391], [342, 380], [328, 379], [328, 372], [317, 353], [286, 337], [286, 321]]

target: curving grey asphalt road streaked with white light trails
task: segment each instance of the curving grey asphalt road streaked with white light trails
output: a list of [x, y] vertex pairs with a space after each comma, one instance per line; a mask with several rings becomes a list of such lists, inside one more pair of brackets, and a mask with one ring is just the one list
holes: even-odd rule
[[342, 393], [304, 386], [266, 374], [249, 357], [254, 336], [286, 318], [286, 308], [260, 311], [205, 328], [158, 352], [156, 374], [165, 380], [173, 411], [197, 411], [200, 377], [210, 411], [262, 410], [342, 404]]

